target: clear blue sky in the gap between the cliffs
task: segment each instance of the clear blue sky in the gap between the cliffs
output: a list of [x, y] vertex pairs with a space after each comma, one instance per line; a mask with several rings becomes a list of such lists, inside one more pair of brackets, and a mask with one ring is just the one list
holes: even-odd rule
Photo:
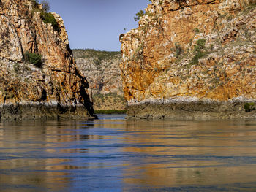
[[119, 35], [124, 28], [138, 27], [136, 12], [148, 0], [48, 0], [50, 11], [64, 20], [70, 47], [120, 50]]

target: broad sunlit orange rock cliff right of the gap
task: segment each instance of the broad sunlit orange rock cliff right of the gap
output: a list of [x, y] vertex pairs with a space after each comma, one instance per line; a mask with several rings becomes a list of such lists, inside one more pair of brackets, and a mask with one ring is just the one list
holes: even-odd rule
[[255, 0], [153, 0], [120, 36], [128, 115], [256, 118], [255, 32]]

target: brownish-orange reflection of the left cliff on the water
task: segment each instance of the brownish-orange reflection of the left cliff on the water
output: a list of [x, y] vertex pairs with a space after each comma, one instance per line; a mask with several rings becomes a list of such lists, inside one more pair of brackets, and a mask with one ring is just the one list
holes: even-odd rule
[[[89, 135], [75, 134], [78, 128], [78, 123], [72, 122], [1, 124], [1, 157], [6, 157], [0, 161], [0, 169], [4, 170], [0, 174], [1, 190], [12, 191], [9, 185], [17, 186], [18, 191], [28, 191], [28, 185], [31, 185], [31, 191], [38, 186], [42, 191], [68, 188], [67, 170], [80, 167], [69, 164], [65, 154], [88, 152], [83, 147], [70, 149], [66, 146], [68, 142], [89, 139]], [[31, 145], [29, 150], [28, 145]], [[2, 183], [5, 185], [1, 186]]]

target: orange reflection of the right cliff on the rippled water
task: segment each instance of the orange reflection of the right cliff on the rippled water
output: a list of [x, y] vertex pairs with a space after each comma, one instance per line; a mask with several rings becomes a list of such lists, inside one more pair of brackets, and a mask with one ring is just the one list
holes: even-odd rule
[[[250, 123], [129, 121], [126, 153], [139, 154], [125, 169], [124, 183], [143, 188], [177, 185], [222, 185], [255, 182], [256, 148], [246, 138]], [[136, 146], [137, 145], [137, 146]], [[253, 163], [253, 162], [251, 162]], [[241, 178], [243, 175], [252, 177]]]

